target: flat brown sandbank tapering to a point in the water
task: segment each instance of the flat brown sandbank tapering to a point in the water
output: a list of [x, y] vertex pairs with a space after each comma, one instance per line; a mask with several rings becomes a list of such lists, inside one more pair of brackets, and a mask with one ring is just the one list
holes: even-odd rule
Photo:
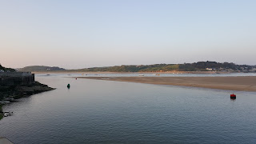
[[256, 77], [76, 77], [156, 85], [193, 86], [220, 90], [256, 91]]

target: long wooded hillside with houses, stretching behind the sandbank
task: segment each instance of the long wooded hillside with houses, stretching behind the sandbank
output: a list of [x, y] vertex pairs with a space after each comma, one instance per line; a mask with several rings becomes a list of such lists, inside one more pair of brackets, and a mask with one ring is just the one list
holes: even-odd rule
[[243, 71], [243, 72], [254, 72], [255, 66], [249, 65], [236, 65], [232, 62], [194, 62], [194, 63], [183, 63], [183, 64], [154, 64], [154, 65], [139, 65], [139, 66], [108, 66], [108, 67], [92, 67], [79, 70], [70, 71], [83, 71], [83, 72], [98, 72], [98, 71], [109, 71], [109, 72], [164, 72], [164, 71]]

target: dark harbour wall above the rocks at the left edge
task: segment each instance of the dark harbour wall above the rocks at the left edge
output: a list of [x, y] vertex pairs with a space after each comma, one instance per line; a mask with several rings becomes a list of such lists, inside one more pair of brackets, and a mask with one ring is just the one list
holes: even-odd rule
[[1, 86], [31, 85], [34, 83], [34, 74], [30, 72], [4, 72], [0, 73]]

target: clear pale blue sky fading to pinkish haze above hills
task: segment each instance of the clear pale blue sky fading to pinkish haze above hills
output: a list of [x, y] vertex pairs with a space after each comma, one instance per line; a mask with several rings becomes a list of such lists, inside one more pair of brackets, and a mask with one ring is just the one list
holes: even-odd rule
[[256, 65], [255, 7], [254, 0], [0, 0], [0, 63]]

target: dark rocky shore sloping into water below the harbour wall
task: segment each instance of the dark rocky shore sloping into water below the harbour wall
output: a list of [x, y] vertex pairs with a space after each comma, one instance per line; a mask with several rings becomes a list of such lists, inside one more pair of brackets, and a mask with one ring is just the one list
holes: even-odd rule
[[10, 104], [11, 102], [16, 102], [18, 98], [25, 98], [33, 94], [50, 90], [54, 90], [54, 88], [40, 82], [34, 82], [33, 84], [22, 86], [0, 86], [0, 120], [4, 114], [8, 114], [2, 111], [2, 106]]

